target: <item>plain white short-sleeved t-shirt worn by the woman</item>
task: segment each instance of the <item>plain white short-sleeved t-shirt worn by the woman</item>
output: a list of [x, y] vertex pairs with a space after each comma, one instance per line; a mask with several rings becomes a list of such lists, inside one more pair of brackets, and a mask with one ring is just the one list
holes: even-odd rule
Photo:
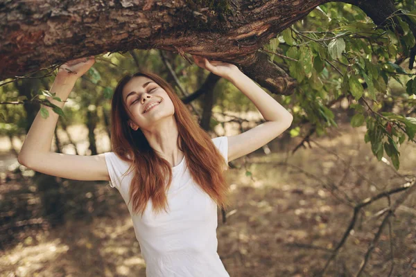
[[[212, 139], [228, 163], [227, 136]], [[129, 163], [114, 152], [105, 152], [110, 186], [121, 193], [128, 204], [128, 188], [132, 179]], [[143, 217], [128, 211], [146, 262], [147, 277], [229, 277], [217, 253], [217, 205], [191, 178], [185, 157], [172, 168], [172, 184], [168, 189], [166, 213], [153, 213], [150, 199]]]

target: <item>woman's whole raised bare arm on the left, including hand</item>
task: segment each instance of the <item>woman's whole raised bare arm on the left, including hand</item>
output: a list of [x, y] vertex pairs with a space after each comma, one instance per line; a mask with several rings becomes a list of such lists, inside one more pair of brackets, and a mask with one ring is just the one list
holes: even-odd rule
[[[56, 93], [62, 102], [48, 98], [53, 104], [62, 108], [73, 86], [85, 72], [94, 64], [94, 57], [71, 60], [60, 66], [58, 75], [51, 87], [51, 93]], [[47, 175], [75, 180], [109, 180], [104, 154], [80, 156], [51, 152], [53, 132], [58, 121], [51, 107], [42, 105], [49, 111], [48, 118], [43, 118], [40, 111], [29, 129], [26, 139], [21, 146], [18, 161], [27, 168]]]

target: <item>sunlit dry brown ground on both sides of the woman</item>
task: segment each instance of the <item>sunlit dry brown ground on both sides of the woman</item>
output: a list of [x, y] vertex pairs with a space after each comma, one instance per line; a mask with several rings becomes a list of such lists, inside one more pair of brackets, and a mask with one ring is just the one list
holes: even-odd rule
[[[343, 238], [354, 204], [406, 184], [402, 175], [416, 175], [416, 145], [401, 145], [396, 172], [390, 158], [376, 160], [364, 134], [365, 127], [343, 124], [293, 155], [289, 152], [300, 138], [285, 145], [276, 139], [268, 145], [270, 154], [260, 149], [232, 161], [236, 168], [227, 171], [232, 206], [225, 223], [218, 208], [217, 229], [218, 254], [230, 276], [319, 276]], [[2, 181], [1, 199], [19, 185]], [[21, 231], [17, 242], [0, 253], [0, 276], [145, 276], [123, 199], [107, 182], [89, 186], [102, 200], [97, 211], [55, 229]], [[331, 191], [331, 186], [338, 189]], [[383, 219], [373, 215], [387, 205], [383, 198], [363, 208], [324, 276], [356, 274]], [[416, 195], [410, 195], [392, 217], [391, 276], [416, 276], [415, 207]], [[361, 276], [388, 276], [391, 267], [386, 227]]]

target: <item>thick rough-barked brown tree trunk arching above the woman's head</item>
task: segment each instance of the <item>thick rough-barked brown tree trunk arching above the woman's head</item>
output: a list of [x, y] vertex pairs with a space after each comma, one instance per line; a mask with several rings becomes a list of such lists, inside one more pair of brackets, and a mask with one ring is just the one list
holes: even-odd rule
[[327, 1], [6, 0], [0, 79], [87, 55], [159, 48], [239, 64], [282, 93], [293, 89], [293, 80], [257, 49]]

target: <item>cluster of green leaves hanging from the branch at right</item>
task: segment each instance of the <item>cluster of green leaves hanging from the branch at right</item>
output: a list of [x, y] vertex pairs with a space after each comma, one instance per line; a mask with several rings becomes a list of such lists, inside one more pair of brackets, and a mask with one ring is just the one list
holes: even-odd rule
[[[410, 6], [410, 2], [401, 5]], [[416, 10], [401, 12], [416, 22]], [[365, 142], [370, 141], [373, 154], [380, 161], [385, 150], [399, 169], [397, 145], [406, 136], [415, 142], [416, 118], [409, 116], [416, 102], [415, 73], [401, 66], [415, 37], [399, 13], [387, 20], [381, 28], [355, 6], [327, 3], [281, 32], [267, 48], [282, 53], [270, 59], [288, 68], [299, 83], [293, 96], [287, 96], [295, 123], [307, 120], [322, 135], [326, 127], [336, 126], [328, 103], [348, 98], [356, 112], [352, 126], [366, 122]], [[389, 87], [392, 79], [401, 85], [399, 93]], [[379, 112], [388, 102], [397, 102], [403, 114]], [[291, 132], [300, 134], [298, 129]]]

